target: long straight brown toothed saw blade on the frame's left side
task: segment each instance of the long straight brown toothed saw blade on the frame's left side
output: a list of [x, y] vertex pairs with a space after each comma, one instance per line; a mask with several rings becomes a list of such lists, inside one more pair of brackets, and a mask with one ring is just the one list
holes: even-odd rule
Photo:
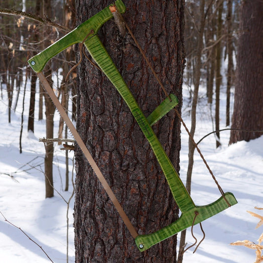
[[73, 125], [73, 123], [72, 123], [71, 119], [69, 118], [68, 114], [66, 113], [66, 111], [63, 108], [63, 106], [59, 102], [57, 96], [55, 95], [53, 89], [49, 85], [49, 83], [48, 83], [47, 79], [45, 78], [44, 74], [42, 72], [39, 72], [37, 74], [38, 74], [38, 77], [39, 77], [44, 89], [46, 90], [47, 94], [49, 95], [49, 97], [53, 101], [53, 103], [56, 106], [56, 108], [59, 111], [59, 113], [61, 114], [61, 117], [66, 122], [68, 128], [70, 129], [72, 135], [74, 136], [76, 143], [78, 144], [78, 146], [82, 150], [83, 154], [87, 158], [91, 168], [93, 169], [93, 171], [96, 174], [97, 178], [101, 182], [103, 188], [105, 189], [105, 191], [107, 192], [107, 194], [111, 198], [111, 200], [113, 202], [113, 205], [117, 209], [117, 211], [118, 211], [120, 217], [122, 218], [124, 224], [127, 226], [127, 228], [130, 231], [132, 237], [136, 238], [138, 236], [138, 233], [137, 233], [136, 229], [131, 224], [129, 218], [127, 217], [127, 215], [124, 212], [123, 208], [121, 207], [119, 201], [117, 200], [116, 196], [114, 195], [112, 189], [110, 188], [109, 184], [107, 183], [106, 179], [104, 178], [100, 168], [98, 167], [98, 165], [94, 161], [94, 159], [91, 156], [89, 150], [87, 149], [86, 145], [84, 144], [84, 142], [82, 141], [82, 139], [79, 136], [78, 132], [76, 131], [75, 126]]

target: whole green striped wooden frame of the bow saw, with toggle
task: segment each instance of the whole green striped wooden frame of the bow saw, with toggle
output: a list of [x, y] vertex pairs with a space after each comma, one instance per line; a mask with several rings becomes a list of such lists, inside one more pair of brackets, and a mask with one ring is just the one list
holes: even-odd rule
[[[116, 0], [114, 5], [120, 13], [125, 12], [126, 8], [121, 0]], [[110, 6], [113, 6], [113, 4]], [[148, 117], [144, 115], [127, 84], [116, 69], [110, 55], [97, 36], [97, 32], [100, 27], [111, 18], [113, 18], [113, 14], [108, 6], [79, 25], [75, 30], [47, 47], [38, 55], [29, 59], [28, 63], [35, 72], [39, 73], [43, 70], [45, 64], [56, 54], [70, 45], [83, 42], [83, 39], [86, 39], [84, 41], [84, 45], [88, 52], [105, 75], [107, 75], [123, 100], [128, 105], [131, 113], [149, 141], [150, 146], [166, 177], [173, 197], [182, 212], [181, 217], [171, 225], [167, 225], [154, 233], [138, 235], [136, 237], [135, 242], [137, 247], [140, 251], [145, 251], [154, 244], [186, 229], [187, 227], [196, 225], [220, 213], [229, 207], [227, 202], [230, 205], [234, 205], [237, 201], [232, 193], [226, 192], [224, 193], [224, 196], [222, 195], [218, 200], [211, 204], [203, 206], [196, 206], [194, 204], [172, 162], [151, 128], [152, 124], [158, 121], [178, 104], [178, 99], [175, 95], [170, 94], [169, 98], [166, 98]], [[198, 214], [198, 216], [196, 216], [196, 214]]]

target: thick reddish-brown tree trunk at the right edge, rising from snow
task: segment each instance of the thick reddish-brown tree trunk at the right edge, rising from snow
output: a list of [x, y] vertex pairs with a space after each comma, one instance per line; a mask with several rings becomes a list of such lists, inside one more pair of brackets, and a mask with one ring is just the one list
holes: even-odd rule
[[[229, 144], [249, 141], [263, 133], [263, 2], [243, 1], [240, 10], [240, 36], [237, 54], [234, 112]], [[254, 130], [244, 132], [242, 130]]]

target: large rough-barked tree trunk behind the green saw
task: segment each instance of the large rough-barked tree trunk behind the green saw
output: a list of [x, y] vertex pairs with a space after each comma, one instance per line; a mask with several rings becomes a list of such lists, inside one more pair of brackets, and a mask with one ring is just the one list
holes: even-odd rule
[[[79, 0], [77, 24], [112, 1]], [[182, 102], [184, 1], [126, 0], [128, 21], [165, 84]], [[83, 12], [85, 10], [85, 12]], [[130, 35], [111, 20], [100, 31], [114, 63], [146, 116], [165, 98]], [[79, 55], [77, 56], [79, 58]], [[77, 130], [140, 234], [177, 219], [178, 209], [150, 145], [120, 95], [99, 70], [82, 61], [77, 72]], [[181, 104], [179, 106], [181, 112]], [[180, 122], [172, 111], [153, 127], [179, 171]], [[144, 252], [137, 249], [76, 147], [75, 262], [176, 262], [176, 236]]]

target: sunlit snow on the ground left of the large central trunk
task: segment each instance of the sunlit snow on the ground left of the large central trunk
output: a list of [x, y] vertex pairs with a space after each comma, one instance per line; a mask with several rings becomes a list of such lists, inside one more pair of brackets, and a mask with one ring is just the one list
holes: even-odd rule
[[[27, 131], [28, 118], [24, 118], [22, 134], [22, 154], [19, 153], [19, 135], [21, 129], [22, 93], [17, 111], [12, 111], [8, 124], [8, 111], [5, 90], [0, 101], [0, 212], [12, 224], [20, 227], [30, 238], [36, 241], [55, 263], [66, 262], [67, 253], [67, 203], [55, 192], [55, 197], [45, 199], [44, 182], [44, 145], [38, 138], [45, 137], [45, 121], [35, 122], [35, 133]], [[29, 102], [26, 92], [26, 102]], [[38, 96], [37, 96], [38, 97]], [[37, 99], [38, 100], [38, 99]], [[29, 105], [25, 105], [28, 115]], [[38, 104], [36, 113], [38, 115]], [[55, 132], [58, 131], [59, 115], [55, 113]], [[56, 136], [56, 135], [55, 135]], [[55, 189], [69, 200], [65, 188], [65, 152], [55, 145], [53, 178]], [[69, 153], [73, 158], [73, 153]], [[73, 164], [70, 161], [70, 171]], [[71, 172], [70, 172], [71, 178]], [[70, 179], [71, 181], [71, 179]], [[75, 262], [74, 198], [69, 209], [69, 262]], [[42, 250], [19, 229], [6, 223], [0, 215], [0, 263], [47, 263], [50, 262]]]

